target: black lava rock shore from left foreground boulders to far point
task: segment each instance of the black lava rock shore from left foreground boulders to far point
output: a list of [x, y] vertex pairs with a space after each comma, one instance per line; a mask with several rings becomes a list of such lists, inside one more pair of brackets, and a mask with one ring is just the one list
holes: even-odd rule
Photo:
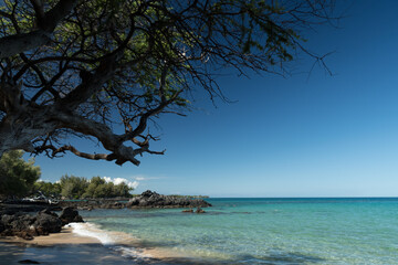
[[[201, 208], [211, 206], [202, 199], [178, 195], [161, 195], [147, 190], [129, 201], [117, 200], [81, 200], [60, 201], [56, 205], [48, 203], [2, 203], [0, 204], [0, 235], [19, 236], [32, 240], [33, 236], [59, 233], [62, 226], [71, 222], [83, 222], [77, 210], [93, 209], [146, 209], [146, 208]], [[60, 215], [54, 211], [61, 211]], [[185, 212], [193, 212], [187, 210]]]

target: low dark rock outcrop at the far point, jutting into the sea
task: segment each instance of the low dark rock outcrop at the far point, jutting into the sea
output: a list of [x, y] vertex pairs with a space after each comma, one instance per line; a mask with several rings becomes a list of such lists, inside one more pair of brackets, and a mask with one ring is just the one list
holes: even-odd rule
[[210, 203], [202, 199], [189, 197], [160, 195], [147, 190], [139, 197], [135, 197], [126, 204], [127, 208], [207, 208]]

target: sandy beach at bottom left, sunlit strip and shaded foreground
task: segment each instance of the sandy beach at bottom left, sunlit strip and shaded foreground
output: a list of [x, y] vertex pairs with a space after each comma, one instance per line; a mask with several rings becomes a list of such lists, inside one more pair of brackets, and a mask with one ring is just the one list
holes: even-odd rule
[[0, 261], [6, 264], [20, 264], [19, 262], [27, 259], [39, 264], [73, 265], [198, 264], [175, 252], [144, 247], [128, 234], [103, 232], [105, 236], [111, 233], [116, 240], [104, 242], [96, 236], [81, 235], [74, 232], [73, 225], [64, 226], [60, 233], [35, 236], [30, 241], [17, 236], [0, 236]]

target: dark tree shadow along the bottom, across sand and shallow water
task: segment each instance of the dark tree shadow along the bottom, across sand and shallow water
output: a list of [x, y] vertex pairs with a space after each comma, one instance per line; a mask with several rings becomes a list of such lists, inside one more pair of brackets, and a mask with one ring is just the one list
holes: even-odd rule
[[[151, 244], [154, 247], [154, 244]], [[156, 247], [156, 246], [155, 246]], [[126, 255], [122, 250], [132, 250]], [[34, 261], [36, 263], [25, 264], [266, 264], [266, 265], [301, 265], [322, 264], [325, 261], [315, 256], [300, 253], [274, 253], [264, 256], [241, 255], [234, 261], [220, 259], [196, 259], [189, 257], [168, 257], [165, 259], [151, 258], [139, 255], [132, 245], [104, 246], [98, 243], [90, 244], [54, 244], [51, 246], [31, 245], [24, 243], [0, 242], [0, 264], [21, 264], [21, 261]]]

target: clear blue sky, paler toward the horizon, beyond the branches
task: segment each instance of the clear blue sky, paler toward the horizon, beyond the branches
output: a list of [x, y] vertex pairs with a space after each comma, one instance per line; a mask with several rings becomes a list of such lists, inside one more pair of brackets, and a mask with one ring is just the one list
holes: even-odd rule
[[[165, 156], [116, 166], [67, 155], [38, 157], [42, 179], [126, 178], [136, 193], [211, 197], [398, 195], [398, 1], [354, 1], [341, 29], [320, 29], [308, 46], [328, 76], [252, 75], [219, 80], [234, 104], [197, 93], [188, 117], [164, 116]], [[295, 67], [308, 72], [308, 62]], [[81, 150], [92, 150], [92, 142]]]

